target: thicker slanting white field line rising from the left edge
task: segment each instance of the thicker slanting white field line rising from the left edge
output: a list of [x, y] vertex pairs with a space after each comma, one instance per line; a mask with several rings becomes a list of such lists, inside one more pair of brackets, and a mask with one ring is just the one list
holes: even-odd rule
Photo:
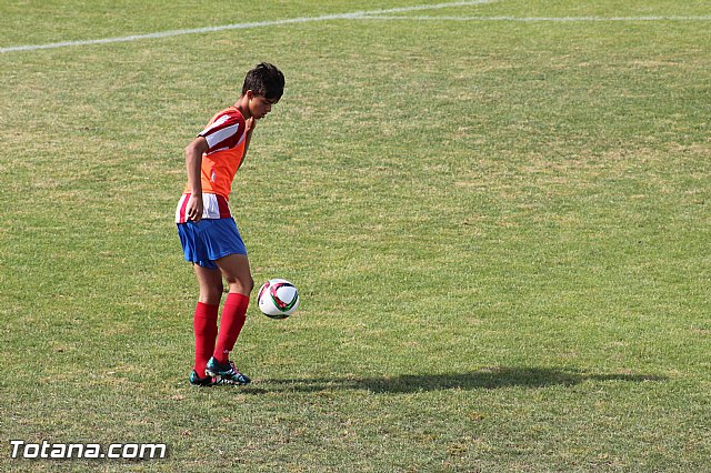
[[400, 8], [391, 8], [391, 9], [383, 9], [383, 10], [353, 11], [350, 13], [323, 14], [320, 17], [288, 18], [283, 20], [223, 24], [220, 27], [206, 27], [206, 28], [192, 28], [187, 30], [159, 31], [154, 33], [131, 34], [131, 36], [118, 37], [118, 38], [61, 41], [61, 42], [51, 42], [46, 44], [10, 46], [6, 48], [0, 48], [0, 53], [12, 52], [12, 51], [37, 51], [40, 49], [56, 49], [56, 48], [66, 48], [66, 47], [72, 47], [72, 46], [107, 44], [107, 43], [113, 43], [113, 42], [140, 41], [146, 39], [177, 37], [182, 34], [210, 33], [214, 31], [226, 31], [226, 30], [246, 30], [250, 28], [278, 27], [282, 24], [309, 23], [313, 21], [352, 20], [352, 19], [365, 18], [369, 16], [404, 13], [410, 11], [422, 11], [422, 10], [438, 10], [438, 9], [452, 8], [452, 7], [471, 7], [477, 4], [493, 3], [499, 0], [452, 1], [452, 2], [445, 2], [445, 3], [420, 4], [420, 6], [400, 7]]

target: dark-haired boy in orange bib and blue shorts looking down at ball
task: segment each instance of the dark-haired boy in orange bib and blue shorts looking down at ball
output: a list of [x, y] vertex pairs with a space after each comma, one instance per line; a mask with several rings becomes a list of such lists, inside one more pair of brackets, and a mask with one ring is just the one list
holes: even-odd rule
[[[254, 282], [228, 201], [257, 120], [270, 112], [283, 89], [284, 77], [277, 67], [266, 62], [257, 66], [247, 73], [234, 105], [218, 112], [186, 148], [188, 185], [178, 202], [176, 223], [186, 261], [192, 262], [200, 288], [193, 318], [192, 385], [250, 382], [229, 360], [244, 324]], [[229, 291], [218, 331], [223, 278]]]

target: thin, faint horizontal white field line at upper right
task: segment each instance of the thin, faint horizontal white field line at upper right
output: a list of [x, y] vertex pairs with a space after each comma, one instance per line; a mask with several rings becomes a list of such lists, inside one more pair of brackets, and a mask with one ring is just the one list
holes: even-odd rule
[[711, 16], [698, 17], [424, 17], [424, 16], [362, 16], [357, 20], [417, 20], [417, 21], [522, 21], [522, 22], [604, 22], [604, 21], [711, 21]]

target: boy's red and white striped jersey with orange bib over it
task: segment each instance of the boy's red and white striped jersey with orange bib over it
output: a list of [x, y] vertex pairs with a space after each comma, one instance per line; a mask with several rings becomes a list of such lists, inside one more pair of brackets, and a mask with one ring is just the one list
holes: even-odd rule
[[[232, 191], [234, 174], [244, 158], [246, 122], [236, 108], [219, 111], [198, 137], [208, 142], [208, 151], [202, 154], [201, 181], [204, 201], [203, 219], [231, 217], [228, 201]], [[184, 209], [190, 197], [186, 185], [178, 209], [176, 222], [184, 223]]]

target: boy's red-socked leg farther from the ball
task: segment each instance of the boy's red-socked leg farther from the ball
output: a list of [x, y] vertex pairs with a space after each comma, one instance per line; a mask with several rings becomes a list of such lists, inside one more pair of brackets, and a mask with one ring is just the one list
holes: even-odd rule
[[194, 370], [199, 376], [204, 376], [204, 369], [214, 352], [218, 335], [218, 313], [223, 290], [222, 273], [218, 269], [202, 268], [198, 264], [193, 268], [200, 285], [200, 299], [192, 323], [196, 335]]

